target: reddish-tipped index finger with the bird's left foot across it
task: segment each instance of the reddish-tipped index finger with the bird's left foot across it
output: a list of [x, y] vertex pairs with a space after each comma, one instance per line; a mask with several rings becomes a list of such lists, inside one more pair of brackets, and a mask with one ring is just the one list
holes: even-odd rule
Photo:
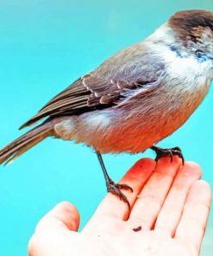
[[[122, 193], [128, 197], [128, 202], [132, 206], [135, 203], [137, 195], [140, 193], [141, 188], [147, 182], [148, 177], [152, 174], [155, 161], [149, 158], [139, 160], [135, 165], [128, 170], [125, 176], [123, 176], [120, 183], [126, 183], [133, 189], [133, 192], [122, 189]], [[127, 219], [129, 214], [128, 206], [126, 203], [120, 201], [118, 197], [108, 193], [103, 202], [97, 208], [95, 217], [110, 215], [121, 220]]]

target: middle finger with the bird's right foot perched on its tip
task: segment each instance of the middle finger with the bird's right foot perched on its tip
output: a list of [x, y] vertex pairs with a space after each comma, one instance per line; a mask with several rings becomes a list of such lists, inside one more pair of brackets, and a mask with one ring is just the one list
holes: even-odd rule
[[153, 227], [180, 164], [179, 157], [173, 157], [172, 163], [169, 157], [160, 159], [135, 202], [129, 217], [131, 225], [141, 226], [143, 230]]

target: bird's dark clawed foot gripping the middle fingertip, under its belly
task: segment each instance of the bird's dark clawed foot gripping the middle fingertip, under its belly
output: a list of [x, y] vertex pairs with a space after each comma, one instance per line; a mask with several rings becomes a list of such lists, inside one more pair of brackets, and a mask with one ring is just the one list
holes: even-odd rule
[[182, 159], [183, 165], [185, 164], [185, 158], [184, 158], [182, 151], [180, 150], [179, 147], [175, 147], [172, 149], [161, 149], [160, 147], [153, 145], [150, 149], [154, 150], [157, 155], [155, 157], [156, 162], [158, 162], [161, 157], [170, 157], [171, 162], [172, 162], [173, 156], [179, 156], [179, 158]]

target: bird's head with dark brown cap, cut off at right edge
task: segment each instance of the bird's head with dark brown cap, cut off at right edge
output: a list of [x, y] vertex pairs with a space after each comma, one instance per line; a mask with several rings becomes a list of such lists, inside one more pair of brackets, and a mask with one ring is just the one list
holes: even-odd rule
[[213, 61], [213, 12], [185, 10], [168, 21], [176, 40], [200, 61]]

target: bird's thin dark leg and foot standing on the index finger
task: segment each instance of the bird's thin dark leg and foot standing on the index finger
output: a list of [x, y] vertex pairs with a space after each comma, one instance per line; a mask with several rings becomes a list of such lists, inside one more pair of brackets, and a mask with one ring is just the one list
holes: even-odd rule
[[133, 192], [133, 189], [130, 188], [127, 184], [119, 184], [119, 183], [113, 182], [107, 173], [106, 167], [103, 163], [102, 155], [99, 152], [97, 152], [97, 158], [103, 170], [103, 176], [106, 181], [107, 191], [113, 195], [117, 195], [120, 198], [120, 200], [122, 200], [123, 202], [126, 202], [128, 204], [128, 208], [130, 208], [130, 204], [128, 202], [127, 196], [122, 193], [121, 189], [128, 189], [131, 192]]

